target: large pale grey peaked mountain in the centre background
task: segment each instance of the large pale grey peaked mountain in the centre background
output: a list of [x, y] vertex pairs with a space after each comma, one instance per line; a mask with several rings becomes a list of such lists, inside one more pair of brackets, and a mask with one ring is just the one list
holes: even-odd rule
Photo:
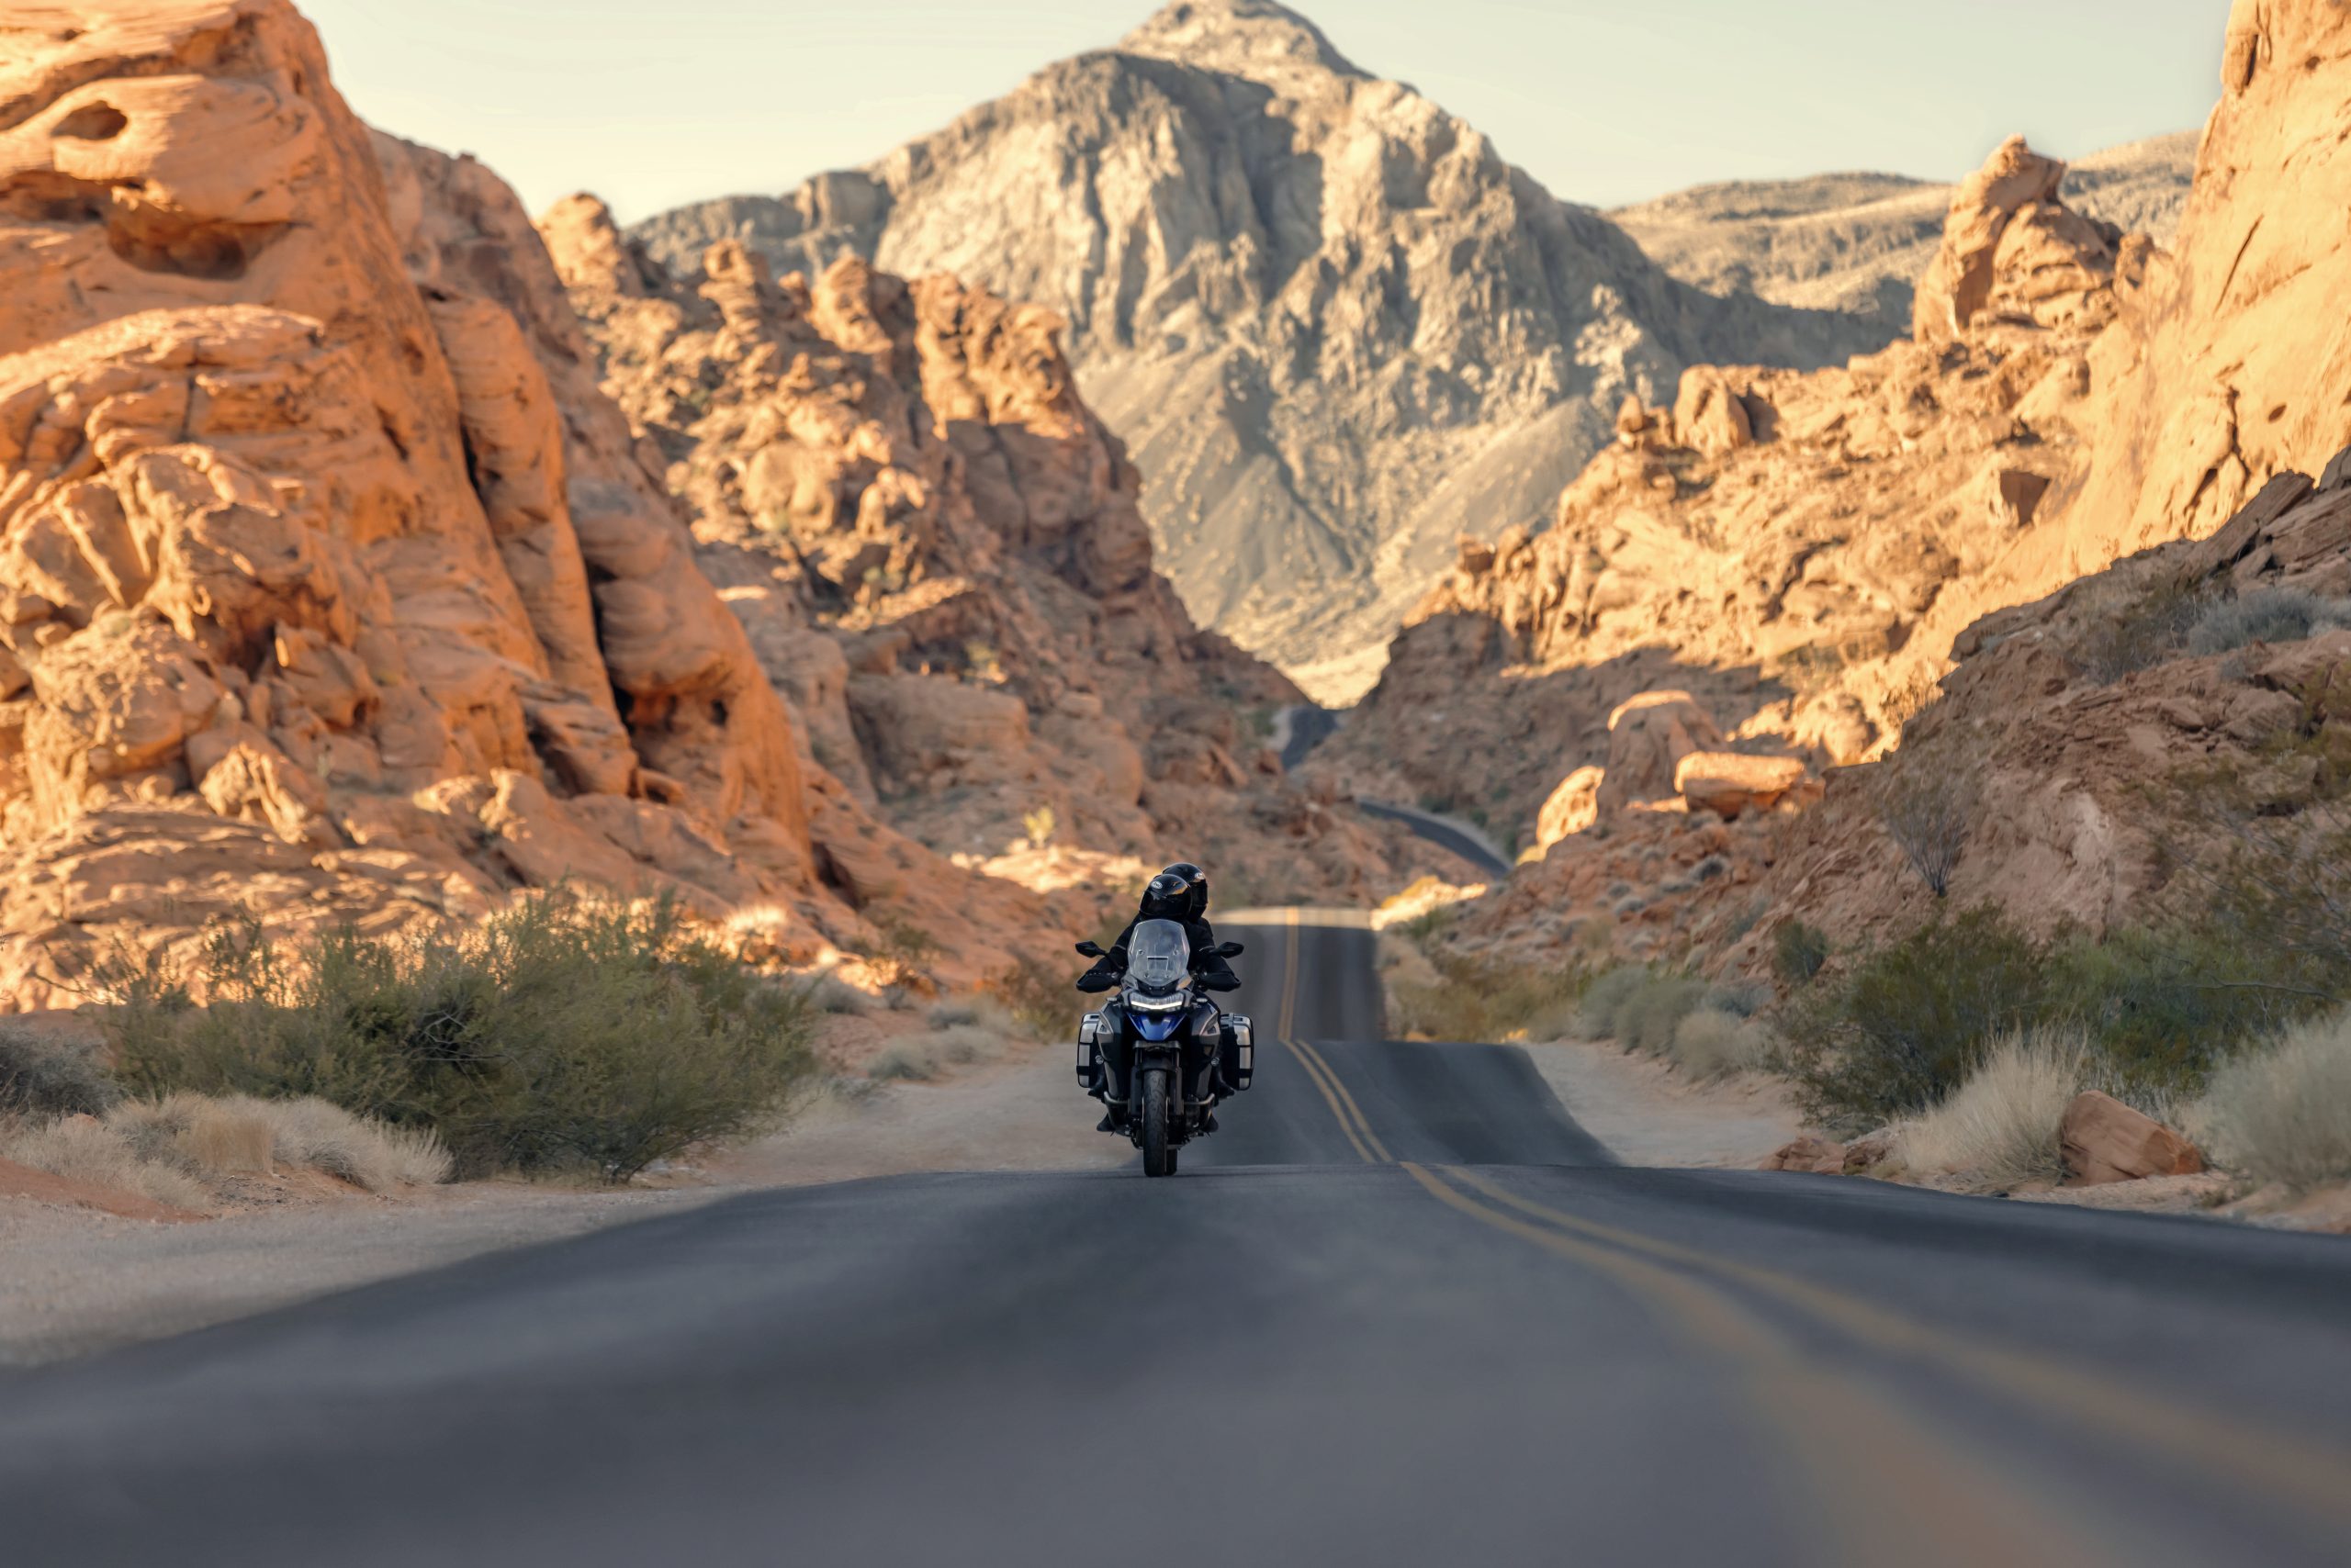
[[682, 273], [738, 240], [1053, 308], [1185, 604], [1338, 701], [1462, 520], [1540, 517], [1625, 395], [1886, 336], [1669, 277], [1270, 0], [1180, 0], [863, 169], [632, 233]]

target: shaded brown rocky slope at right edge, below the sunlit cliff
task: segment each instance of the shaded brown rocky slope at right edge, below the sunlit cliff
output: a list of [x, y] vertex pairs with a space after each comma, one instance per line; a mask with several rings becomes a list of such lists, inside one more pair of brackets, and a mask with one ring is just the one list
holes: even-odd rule
[[[1923, 917], [1933, 896], [1888, 837], [1886, 809], [1942, 780], [1961, 780], [1963, 806], [1949, 900], [1996, 903], [2038, 929], [2106, 931], [2144, 922], [2165, 889], [2198, 896], [2208, 884], [2175, 882], [2182, 865], [2226, 858], [2224, 799], [2280, 835], [2304, 818], [2327, 827], [2309, 757], [2342, 755], [2351, 736], [2346, 475], [2351, 456], [2318, 482], [2280, 475], [2210, 538], [2158, 545], [1970, 625], [1902, 748], [1834, 773], [1827, 799], [1791, 825], [1754, 893], [1756, 938], [1784, 917], [1836, 940]], [[2318, 614], [2269, 616], [2238, 637], [2193, 630], [2280, 599]], [[2201, 778], [2215, 788], [2177, 797]]]

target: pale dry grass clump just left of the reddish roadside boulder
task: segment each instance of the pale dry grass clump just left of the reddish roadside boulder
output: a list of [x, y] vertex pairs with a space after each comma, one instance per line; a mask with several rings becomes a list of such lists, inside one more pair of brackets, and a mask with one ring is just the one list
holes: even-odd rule
[[1991, 1190], [2059, 1180], [2057, 1124], [2088, 1077], [2078, 1030], [2010, 1030], [1975, 1070], [1900, 1135], [1914, 1171], [1970, 1175]]

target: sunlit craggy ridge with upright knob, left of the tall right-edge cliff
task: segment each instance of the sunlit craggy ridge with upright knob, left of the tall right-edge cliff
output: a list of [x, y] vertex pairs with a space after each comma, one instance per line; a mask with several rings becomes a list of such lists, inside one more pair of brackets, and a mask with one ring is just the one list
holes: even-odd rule
[[2071, 473], [2090, 346], [2151, 252], [2069, 209], [2062, 174], [2010, 141], [1958, 186], [1911, 339], [1810, 374], [1695, 367], [1669, 409], [1627, 400], [1549, 531], [1462, 541], [1314, 766], [1523, 832], [1655, 686], [1730, 750], [1871, 755], [1961, 625], [2038, 590], [2015, 562]]

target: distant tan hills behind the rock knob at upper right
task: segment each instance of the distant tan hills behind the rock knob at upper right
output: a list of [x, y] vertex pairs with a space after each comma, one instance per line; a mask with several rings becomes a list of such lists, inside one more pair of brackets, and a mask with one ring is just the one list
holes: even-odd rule
[[[2196, 169], [2196, 132], [2076, 160], [2057, 197], [2170, 244]], [[1942, 244], [1954, 188], [1900, 174], [1815, 174], [1676, 190], [1608, 216], [1681, 282], [1909, 329], [1911, 287]]]

